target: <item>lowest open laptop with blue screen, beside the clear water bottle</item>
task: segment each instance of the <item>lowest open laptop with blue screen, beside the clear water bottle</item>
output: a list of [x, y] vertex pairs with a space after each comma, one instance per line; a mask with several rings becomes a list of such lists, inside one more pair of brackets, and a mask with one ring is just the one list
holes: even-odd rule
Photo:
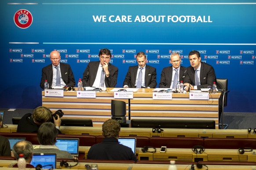
[[51, 165], [56, 169], [57, 156], [56, 153], [34, 153], [31, 165], [36, 167], [42, 165], [43, 169], [51, 169]]

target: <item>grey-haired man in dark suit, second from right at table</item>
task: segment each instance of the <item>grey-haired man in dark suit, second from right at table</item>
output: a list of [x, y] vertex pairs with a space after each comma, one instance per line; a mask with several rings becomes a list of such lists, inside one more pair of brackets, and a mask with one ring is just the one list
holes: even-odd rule
[[[180, 81], [184, 81], [186, 67], [180, 66], [181, 58], [179, 53], [172, 53], [170, 56], [172, 66], [165, 67], [161, 73], [160, 88], [176, 88]], [[177, 79], [174, 80], [177, 70]]]

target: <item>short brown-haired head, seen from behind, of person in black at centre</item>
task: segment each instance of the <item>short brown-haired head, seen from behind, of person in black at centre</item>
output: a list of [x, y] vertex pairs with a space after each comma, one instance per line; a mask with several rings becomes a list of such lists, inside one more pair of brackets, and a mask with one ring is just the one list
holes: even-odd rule
[[119, 137], [121, 126], [116, 120], [108, 119], [102, 124], [103, 137]]

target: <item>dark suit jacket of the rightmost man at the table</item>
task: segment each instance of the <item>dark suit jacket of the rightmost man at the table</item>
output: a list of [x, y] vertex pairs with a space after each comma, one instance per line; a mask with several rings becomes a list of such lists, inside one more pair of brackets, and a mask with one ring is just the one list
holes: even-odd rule
[[[216, 75], [213, 67], [207, 63], [201, 62], [200, 69], [200, 84], [197, 86], [197, 90], [201, 88], [207, 88], [207, 86], [212, 86], [213, 82], [216, 82]], [[192, 66], [187, 68], [187, 76], [185, 77], [184, 83], [190, 83], [195, 85], [195, 70]]]

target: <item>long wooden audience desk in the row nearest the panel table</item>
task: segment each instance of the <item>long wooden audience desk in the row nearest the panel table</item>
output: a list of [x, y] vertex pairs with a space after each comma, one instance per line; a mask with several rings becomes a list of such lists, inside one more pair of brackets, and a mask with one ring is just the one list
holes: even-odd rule
[[[0, 132], [16, 132], [17, 125], [7, 124]], [[63, 134], [102, 135], [102, 127], [60, 127]], [[256, 134], [246, 129], [166, 129], [161, 133], [153, 133], [152, 128], [121, 127], [120, 136], [161, 136], [161, 137], [222, 137], [222, 138], [255, 138]]]

